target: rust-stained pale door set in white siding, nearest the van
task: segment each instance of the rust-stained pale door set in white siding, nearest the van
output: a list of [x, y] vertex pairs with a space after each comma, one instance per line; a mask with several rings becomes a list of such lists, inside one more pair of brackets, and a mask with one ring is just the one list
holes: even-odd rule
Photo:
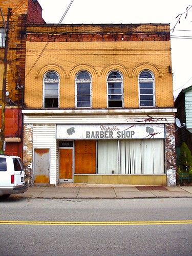
[[34, 183], [50, 182], [49, 148], [34, 150]]

